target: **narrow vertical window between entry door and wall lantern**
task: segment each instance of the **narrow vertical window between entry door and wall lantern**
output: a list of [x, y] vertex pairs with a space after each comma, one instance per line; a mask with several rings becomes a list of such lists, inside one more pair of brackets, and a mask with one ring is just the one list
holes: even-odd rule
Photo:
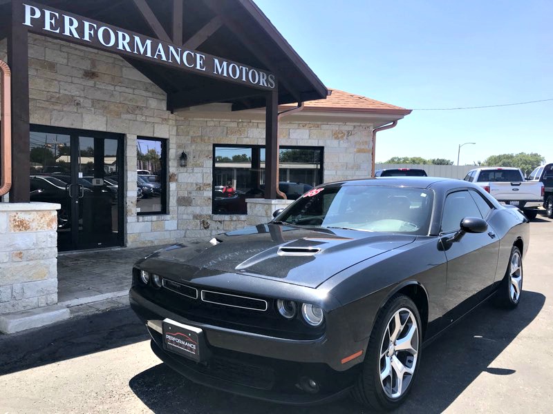
[[167, 213], [167, 139], [136, 140], [138, 215]]

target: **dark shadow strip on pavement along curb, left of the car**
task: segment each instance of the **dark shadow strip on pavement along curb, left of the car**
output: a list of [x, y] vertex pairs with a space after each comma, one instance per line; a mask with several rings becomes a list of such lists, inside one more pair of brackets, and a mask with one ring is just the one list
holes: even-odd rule
[[134, 344], [149, 335], [130, 307], [0, 335], [0, 375]]

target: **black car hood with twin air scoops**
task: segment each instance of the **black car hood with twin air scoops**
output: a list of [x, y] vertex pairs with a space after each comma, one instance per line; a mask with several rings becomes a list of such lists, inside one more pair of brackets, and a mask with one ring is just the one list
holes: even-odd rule
[[146, 261], [162, 260], [164, 268], [171, 266], [167, 261], [175, 266], [185, 265], [186, 273], [192, 273], [185, 276], [189, 280], [194, 279], [195, 272], [209, 269], [315, 288], [339, 271], [412, 243], [415, 238], [261, 224], [211, 239], [169, 246], [153, 253]]

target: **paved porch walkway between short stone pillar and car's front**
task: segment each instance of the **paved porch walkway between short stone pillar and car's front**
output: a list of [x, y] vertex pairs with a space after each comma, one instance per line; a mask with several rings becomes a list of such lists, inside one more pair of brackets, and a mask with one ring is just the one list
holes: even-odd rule
[[133, 264], [162, 246], [62, 253], [57, 258], [58, 303], [79, 311], [128, 303]]

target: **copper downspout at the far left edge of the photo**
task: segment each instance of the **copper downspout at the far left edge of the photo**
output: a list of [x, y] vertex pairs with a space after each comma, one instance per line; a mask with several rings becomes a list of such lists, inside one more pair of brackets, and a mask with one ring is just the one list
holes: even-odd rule
[[12, 72], [10, 66], [0, 60], [0, 197], [12, 188]]

